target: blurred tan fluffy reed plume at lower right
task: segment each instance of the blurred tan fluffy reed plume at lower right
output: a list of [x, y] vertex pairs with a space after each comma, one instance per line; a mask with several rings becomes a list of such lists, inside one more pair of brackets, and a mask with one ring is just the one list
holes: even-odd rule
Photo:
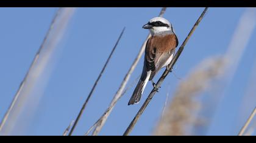
[[199, 93], [209, 87], [213, 79], [221, 74], [223, 66], [224, 58], [207, 58], [191, 71], [188, 78], [180, 82], [177, 87], [174, 98], [158, 123], [154, 135], [191, 135], [187, 133], [187, 128], [202, 124], [201, 120], [197, 120], [196, 113], [201, 104], [196, 101], [196, 98]]

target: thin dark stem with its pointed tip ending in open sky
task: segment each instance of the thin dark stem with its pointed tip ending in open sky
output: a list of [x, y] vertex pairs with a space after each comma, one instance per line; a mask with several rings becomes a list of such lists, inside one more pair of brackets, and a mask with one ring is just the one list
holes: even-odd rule
[[83, 114], [83, 112], [84, 112], [84, 110], [85, 110], [85, 107], [87, 106], [88, 101], [90, 100], [91, 95], [93, 95], [93, 91], [95, 90], [95, 88], [96, 88], [96, 86], [97, 86], [97, 84], [98, 84], [98, 82], [99, 82], [99, 79], [101, 79], [101, 76], [102, 76], [102, 74], [104, 73], [105, 68], [107, 67], [108, 62], [110, 61], [110, 59], [111, 59], [113, 53], [115, 52], [115, 49], [116, 49], [116, 47], [117, 47], [117, 45], [118, 45], [118, 42], [120, 41], [120, 39], [121, 39], [122, 36], [123, 36], [124, 30], [125, 30], [125, 27], [123, 28], [121, 34], [119, 35], [119, 38], [118, 38], [118, 40], [116, 41], [116, 44], [115, 44], [115, 46], [114, 46], [113, 49], [112, 49], [112, 52], [111, 52], [110, 55], [108, 56], [108, 59], [107, 59], [107, 61], [105, 62], [105, 65], [104, 65], [104, 67], [103, 67], [102, 70], [101, 70], [101, 73], [99, 73], [98, 78], [97, 78], [96, 81], [94, 82], [93, 88], [91, 88], [91, 91], [90, 91], [90, 93], [89, 93], [87, 99], [85, 100], [84, 105], [82, 106], [82, 108], [81, 108], [81, 110], [80, 110], [80, 112], [79, 112], [79, 114], [78, 114], [78, 116], [77, 116], [77, 118], [76, 118], [76, 121], [74, 122], [73, 127], [71, 128], [71, 130], [70, 130], [70, 132], [69, 132], [69, 136], [72, 135], [74, 129], [76, 128], [77, 122], [79, 121], [80, 117], [82, 116], [82, 114]]

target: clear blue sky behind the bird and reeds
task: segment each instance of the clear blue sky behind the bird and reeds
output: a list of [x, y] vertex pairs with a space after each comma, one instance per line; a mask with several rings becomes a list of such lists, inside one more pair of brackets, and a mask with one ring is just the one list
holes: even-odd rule
[[[166, 10], [164, 17], [174, 25], [180, 44], [202, 10], [204, 8]], [[244, 10], [246, 8], [210, 8], [180, 56], [176, 75], [183, 79], [203, 59], [224, 54]], [[56, 11], [57, 8], [0, 8], [0, 118], [9, 107]], [[12, 135], [62, 135], [69, 122], [76, 118], [119, 33], [126, 27], [74, 131], [74, 135], [84, 135], [107, 108], [148, 35], [148, 30], [141, 28], [142, 25], [159, 12], [160, 8], [77, 8], [59, 45], [61, 50], [57, 52], [57, 61], [34, 118], [30, 119], [26, 130], [13, 131]], [[252, 39], [256, 39], [255, 32], [235, 72], [235, 78], [227, 87], [220, 104], [216, 105], [216, 114], [207, 135], [236, 135], [247, 118], [241, 118], [239, 110], [253, 75], [256, 42]], [[143, 61], [140, 60], [129, 83], [140, 75], [142, 66]], [[168, 85], [172, 94], [178, 84], [179, 79], [173, 74], [166, 78], [131, 135], [151, 135], [161, 115]], [[142, 104], [127, 106], [133, 89], [118, 102], [100, 135], [123, 135]], [[143, 101], [151, 89], [149, 84], [144, 91]], [[248, 104], [255, 106], [253, 101]], [[247, 112], [249, 114], [251, 111]]]

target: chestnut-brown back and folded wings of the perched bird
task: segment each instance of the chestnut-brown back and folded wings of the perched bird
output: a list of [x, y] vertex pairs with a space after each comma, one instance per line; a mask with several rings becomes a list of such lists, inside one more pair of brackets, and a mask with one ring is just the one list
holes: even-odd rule
[[147, 71], [152, 71], [150, 81], [174, 53], [176, 47], [176, 35], [152, 36], [149, 38], [146, 44], [144, 66]]

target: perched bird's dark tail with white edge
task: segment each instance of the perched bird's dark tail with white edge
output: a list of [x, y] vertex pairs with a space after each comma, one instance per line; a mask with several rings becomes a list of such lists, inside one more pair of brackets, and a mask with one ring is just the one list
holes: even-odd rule
[[138, 102], [140, 102], [140, 98], [141, 98], [141, 95], [144, 90], [143, 87], [146, 86], [145, 84], [146, 84], [146, 81], [142, 81], [140, 79], [135, 90], [133, 91], [132, 98], [130, 98], [128, 105], [133, 105], [133, 104], [137, 104]]

